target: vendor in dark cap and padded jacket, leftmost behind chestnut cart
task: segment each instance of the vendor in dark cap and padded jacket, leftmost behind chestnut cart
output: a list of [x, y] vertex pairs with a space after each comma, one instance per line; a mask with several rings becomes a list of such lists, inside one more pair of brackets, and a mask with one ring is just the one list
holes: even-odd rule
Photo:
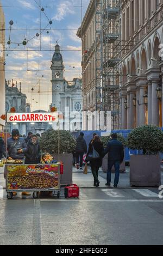
[[17, 129], [12, 130], [12, 137], [7, 140], [8, 159], [24, 159], [27, 152], [27, 144], [24, 139], [19, 137], [20, 133]]

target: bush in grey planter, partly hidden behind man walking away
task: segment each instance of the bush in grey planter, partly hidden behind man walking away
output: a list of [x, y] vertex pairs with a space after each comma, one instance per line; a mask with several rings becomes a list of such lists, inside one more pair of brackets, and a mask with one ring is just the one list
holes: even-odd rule
[[[117, 139], [118, 139], [118, 141], [122, 142], [123, 147], [126, 147], [126, 145], [127, 145], [126, 139], [122, 136], [121, 133], [117, 133]], [[102, 138], [101, 138], [101, 141], [102, 141], [102, 143], [103, 143], [103, 145], [104, 145], [104, 148], [106, 147], [107, 143], [108, 143], [110, 140], [111, 140], [111, 137], [110, 137], [110, 136], [108, 136], [108, 137], [102, 137]], [[104, 158], [103, 158], [102, 170], [103, 170], [103, 172], [107, 172], [107, 170], [108, 170], [108, 154], [106, 154], [106, 155], [104, 156]], [[112, 172], [115, 172], [114, 166], [112, 167]], [[121, 163], [120, 172], [126, 172], [125, 157], [124, 157], [123, 162]]]

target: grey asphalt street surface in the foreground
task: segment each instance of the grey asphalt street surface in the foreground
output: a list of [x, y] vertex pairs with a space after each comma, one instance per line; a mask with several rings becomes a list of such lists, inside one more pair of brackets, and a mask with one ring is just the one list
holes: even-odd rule
[[107, 188], [104, 175], [101, 187], [81, 187], [79, 199], [65, 199], [62, 188], [59, 199], [8, 200], [0, 174], [0, 245], [162, 245], [158, 188]]

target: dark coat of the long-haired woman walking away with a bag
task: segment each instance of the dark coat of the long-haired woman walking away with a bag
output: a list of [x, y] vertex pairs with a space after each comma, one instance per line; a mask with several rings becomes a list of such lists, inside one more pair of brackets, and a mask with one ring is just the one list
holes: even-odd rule
[[[93, 145], [93, 147], [92, 147]], [[104, 151], [104, 147], [103, 147], [103, 143], [102, 142], [93, 142], [89, 144], [89, 150], [87, 151], [86, 157], [90, 154], [93, 153], [93, 148], [98, 152], [99, 154], [99, 158], [90, 161], [90, 166], [96, 166], [96, 167], [101, 167], [102, 166], [102, 162], [103, 162], [103, 151]]]

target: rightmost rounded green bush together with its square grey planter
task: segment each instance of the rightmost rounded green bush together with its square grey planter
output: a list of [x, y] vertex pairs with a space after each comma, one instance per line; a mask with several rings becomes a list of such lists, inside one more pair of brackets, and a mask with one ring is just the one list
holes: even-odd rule
[[129, 133], [128, 148], [142, 150], [131, 155], [130, 185], [160, 186], [160, 156], [163, 151], [163, 132], [154, 125], [143, 125]]

